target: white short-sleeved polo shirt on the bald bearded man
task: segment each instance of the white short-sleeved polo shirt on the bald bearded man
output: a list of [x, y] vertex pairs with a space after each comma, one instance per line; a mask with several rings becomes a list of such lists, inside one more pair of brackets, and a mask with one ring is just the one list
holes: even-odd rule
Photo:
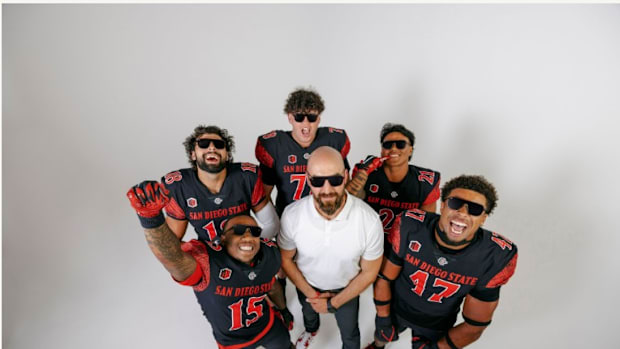
[[297, 249], [297, 267], [319, 289], [346, 287], [359, 274], [360, 258], [371, 261], [383, 255], [379, 215], [350, 194], [332, 220], [319, 214], [312, 195], [293, 202], [282, 213], [280, 229], [278, 245]]

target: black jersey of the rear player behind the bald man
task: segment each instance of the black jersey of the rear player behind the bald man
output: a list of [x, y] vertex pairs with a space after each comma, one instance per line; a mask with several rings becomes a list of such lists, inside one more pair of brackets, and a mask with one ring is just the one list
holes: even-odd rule
[[299, 145], [290, 131], [271, 131], [258, 137], [256, 158], [260, 163], [263, 183], [278, 189], [276, 211], [282, 214], [284, 207], [308, 195], [306, 165], [310, 154], [318, 147], [330, 146], [342, 154], [345, 168], [349, 169], [347, 154], [351, 148], [344, 130], [319, 127], [314, 141], [308, 148]]

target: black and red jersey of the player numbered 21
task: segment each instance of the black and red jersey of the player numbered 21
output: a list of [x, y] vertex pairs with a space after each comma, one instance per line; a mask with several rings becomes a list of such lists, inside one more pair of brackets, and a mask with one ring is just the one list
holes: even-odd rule
[[387, 233], [399, 213], [439, 199], [439, 177], [437, 171], [409, 165], [405, 178], [400, 183], [392, 183], [384, 168], [379, 167], [368, 175], [364, 201], [379, 214], [383, 230]]

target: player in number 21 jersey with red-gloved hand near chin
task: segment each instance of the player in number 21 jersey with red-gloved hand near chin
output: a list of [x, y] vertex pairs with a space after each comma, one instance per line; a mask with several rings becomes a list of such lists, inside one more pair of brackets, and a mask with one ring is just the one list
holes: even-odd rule
[[387, 233], [402, 211], [417, 208], [435, 212], [440, 174], [409, 164], [415, 136], [405, 126], [387, 123], [379, 139], [381, 156], [369, 155], [355, 165], [347, 190], [364, 199], [381, 216]]

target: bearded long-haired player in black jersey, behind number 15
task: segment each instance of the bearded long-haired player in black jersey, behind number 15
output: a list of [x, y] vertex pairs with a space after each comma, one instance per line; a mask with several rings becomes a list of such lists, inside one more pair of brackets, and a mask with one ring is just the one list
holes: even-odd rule
[[235, 143], [226, 129], [200, 125], [183, 143], [191, 168], [173, 171], [161, 181], [170, 191], [166, 222], [179, 239], [188, 222], [198, 238], [217, 242], [226, 220], [256, 215], [265, 238], [279, 230], [279, 219], [264, 193], [258, 166], [233, 162]]

